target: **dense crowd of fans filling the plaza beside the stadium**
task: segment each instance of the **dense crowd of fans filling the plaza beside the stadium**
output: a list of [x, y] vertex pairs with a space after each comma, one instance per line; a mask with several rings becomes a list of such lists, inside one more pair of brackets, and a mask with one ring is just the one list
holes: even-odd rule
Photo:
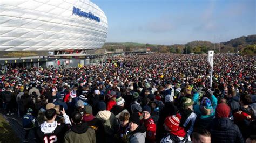
[[[255, 142], [255, 56], [149, 54], [0, 72], [0, 106], [38, 142]], [[31, 132], [31, 133], [32, 133]]]

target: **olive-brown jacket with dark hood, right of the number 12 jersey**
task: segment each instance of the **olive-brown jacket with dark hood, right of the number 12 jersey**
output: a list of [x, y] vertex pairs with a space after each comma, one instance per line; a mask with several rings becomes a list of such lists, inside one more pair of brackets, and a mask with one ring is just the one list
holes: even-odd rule
[[76, 124], [65, 133], [64, 142], [96, 142], [95, 131], [87, 123]]

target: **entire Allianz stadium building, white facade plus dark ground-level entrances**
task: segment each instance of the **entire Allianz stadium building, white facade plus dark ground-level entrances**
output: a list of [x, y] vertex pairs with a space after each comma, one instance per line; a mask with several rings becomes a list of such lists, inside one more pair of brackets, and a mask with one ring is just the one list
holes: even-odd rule
[[0, 68], [74, 67], [106, 59], [107, 17], [89, 0], [0, 2]]

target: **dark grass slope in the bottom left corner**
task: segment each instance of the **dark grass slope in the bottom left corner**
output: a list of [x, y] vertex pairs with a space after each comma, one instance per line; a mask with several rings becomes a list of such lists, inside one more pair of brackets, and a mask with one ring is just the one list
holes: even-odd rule
[[12, 130], [8, 121], [6, 121], [3, 115], [0, 113], [0, 142], [19, 142], [19, 138]]

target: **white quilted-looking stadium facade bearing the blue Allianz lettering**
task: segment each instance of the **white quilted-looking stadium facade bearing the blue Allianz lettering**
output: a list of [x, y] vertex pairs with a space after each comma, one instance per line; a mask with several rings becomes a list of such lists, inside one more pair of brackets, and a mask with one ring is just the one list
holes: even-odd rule
[[0, 51], [102, 48], [107, 28], [89, 0], [0, 1]]

